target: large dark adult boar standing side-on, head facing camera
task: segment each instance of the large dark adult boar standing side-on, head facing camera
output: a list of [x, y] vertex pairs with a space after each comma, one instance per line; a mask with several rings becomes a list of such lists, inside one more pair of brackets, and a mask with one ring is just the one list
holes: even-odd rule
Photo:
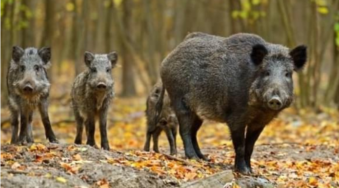
[[[226, 122], [236, 152], [235, 170], [250, 173], [254, 144], [265, 125], [292, 103], [292, 73], [305, 62], [302, 45], [290, 50], [252, 34], [189, 34], [163, 60], [160, 71], [186, 157], [205, 158], [197, 141], [204, 119]], [[163, 94], [164, 89], [161, 98]]]

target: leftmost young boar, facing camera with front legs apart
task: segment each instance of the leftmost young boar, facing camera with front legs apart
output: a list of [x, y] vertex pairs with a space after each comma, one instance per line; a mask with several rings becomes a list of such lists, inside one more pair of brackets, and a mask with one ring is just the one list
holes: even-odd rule
[[[11, 112], [12, 144], [33, 143], [33, 111], [38, 107], [46, 138], [58, 140], [48, 117], [48, 95], [50, 83], [46, 69], [50, 65], [51, 49], [43, 47], [22, 49], [13, 47], [12, 60], [7, 73], [9, 110]], [[20, 133], [19, 131], [20, 117]]]

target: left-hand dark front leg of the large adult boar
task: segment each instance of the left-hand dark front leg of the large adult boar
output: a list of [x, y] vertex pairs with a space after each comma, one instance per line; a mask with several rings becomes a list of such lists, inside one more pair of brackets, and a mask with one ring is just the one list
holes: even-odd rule
[[[241, 120], [242, 118], [235, 116], [235, 119]], [[230, 127], [232, 142], [236, 152], [234, 169], [242, 174], [249, 174], [250, 169], [245, 162], [245, 123], [234, 120], [234, 122], [229, 122], [228, 125]]]

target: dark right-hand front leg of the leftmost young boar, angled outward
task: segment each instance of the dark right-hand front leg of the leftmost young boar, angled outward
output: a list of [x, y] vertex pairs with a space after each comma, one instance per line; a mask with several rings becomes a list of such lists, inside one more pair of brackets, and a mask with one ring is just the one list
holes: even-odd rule
[[46, 138], [48, 138], [49, 142], [58, 143], [58, 140], [52, 130], [51, 122], [49, 121], [48, 103], [46, 100], [41, 101], [39, 112], [42, 119], [43, 127], [45, 128]]

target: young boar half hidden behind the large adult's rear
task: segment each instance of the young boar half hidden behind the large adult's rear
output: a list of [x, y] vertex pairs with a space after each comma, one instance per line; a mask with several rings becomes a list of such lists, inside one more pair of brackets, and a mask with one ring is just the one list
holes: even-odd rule
[[146, 101], [146, 118], [147, 118], [147, 132], [146, 143], [144, 146], [145, 151], [149, 151], [151, 136], [153, 136], [153, 150], [159, 152], [158, 138], [162, 131], [166, 133], [171, 155], [177, 154], [177, 127], [178, 120], [174, 114], [170, 100], [167, 94], [164, 95], [161, 114], [156, 118], [156, 104], [159, 100], [159, 96], [162, 89], [162, 83], [158, 82], [152, 89]]

